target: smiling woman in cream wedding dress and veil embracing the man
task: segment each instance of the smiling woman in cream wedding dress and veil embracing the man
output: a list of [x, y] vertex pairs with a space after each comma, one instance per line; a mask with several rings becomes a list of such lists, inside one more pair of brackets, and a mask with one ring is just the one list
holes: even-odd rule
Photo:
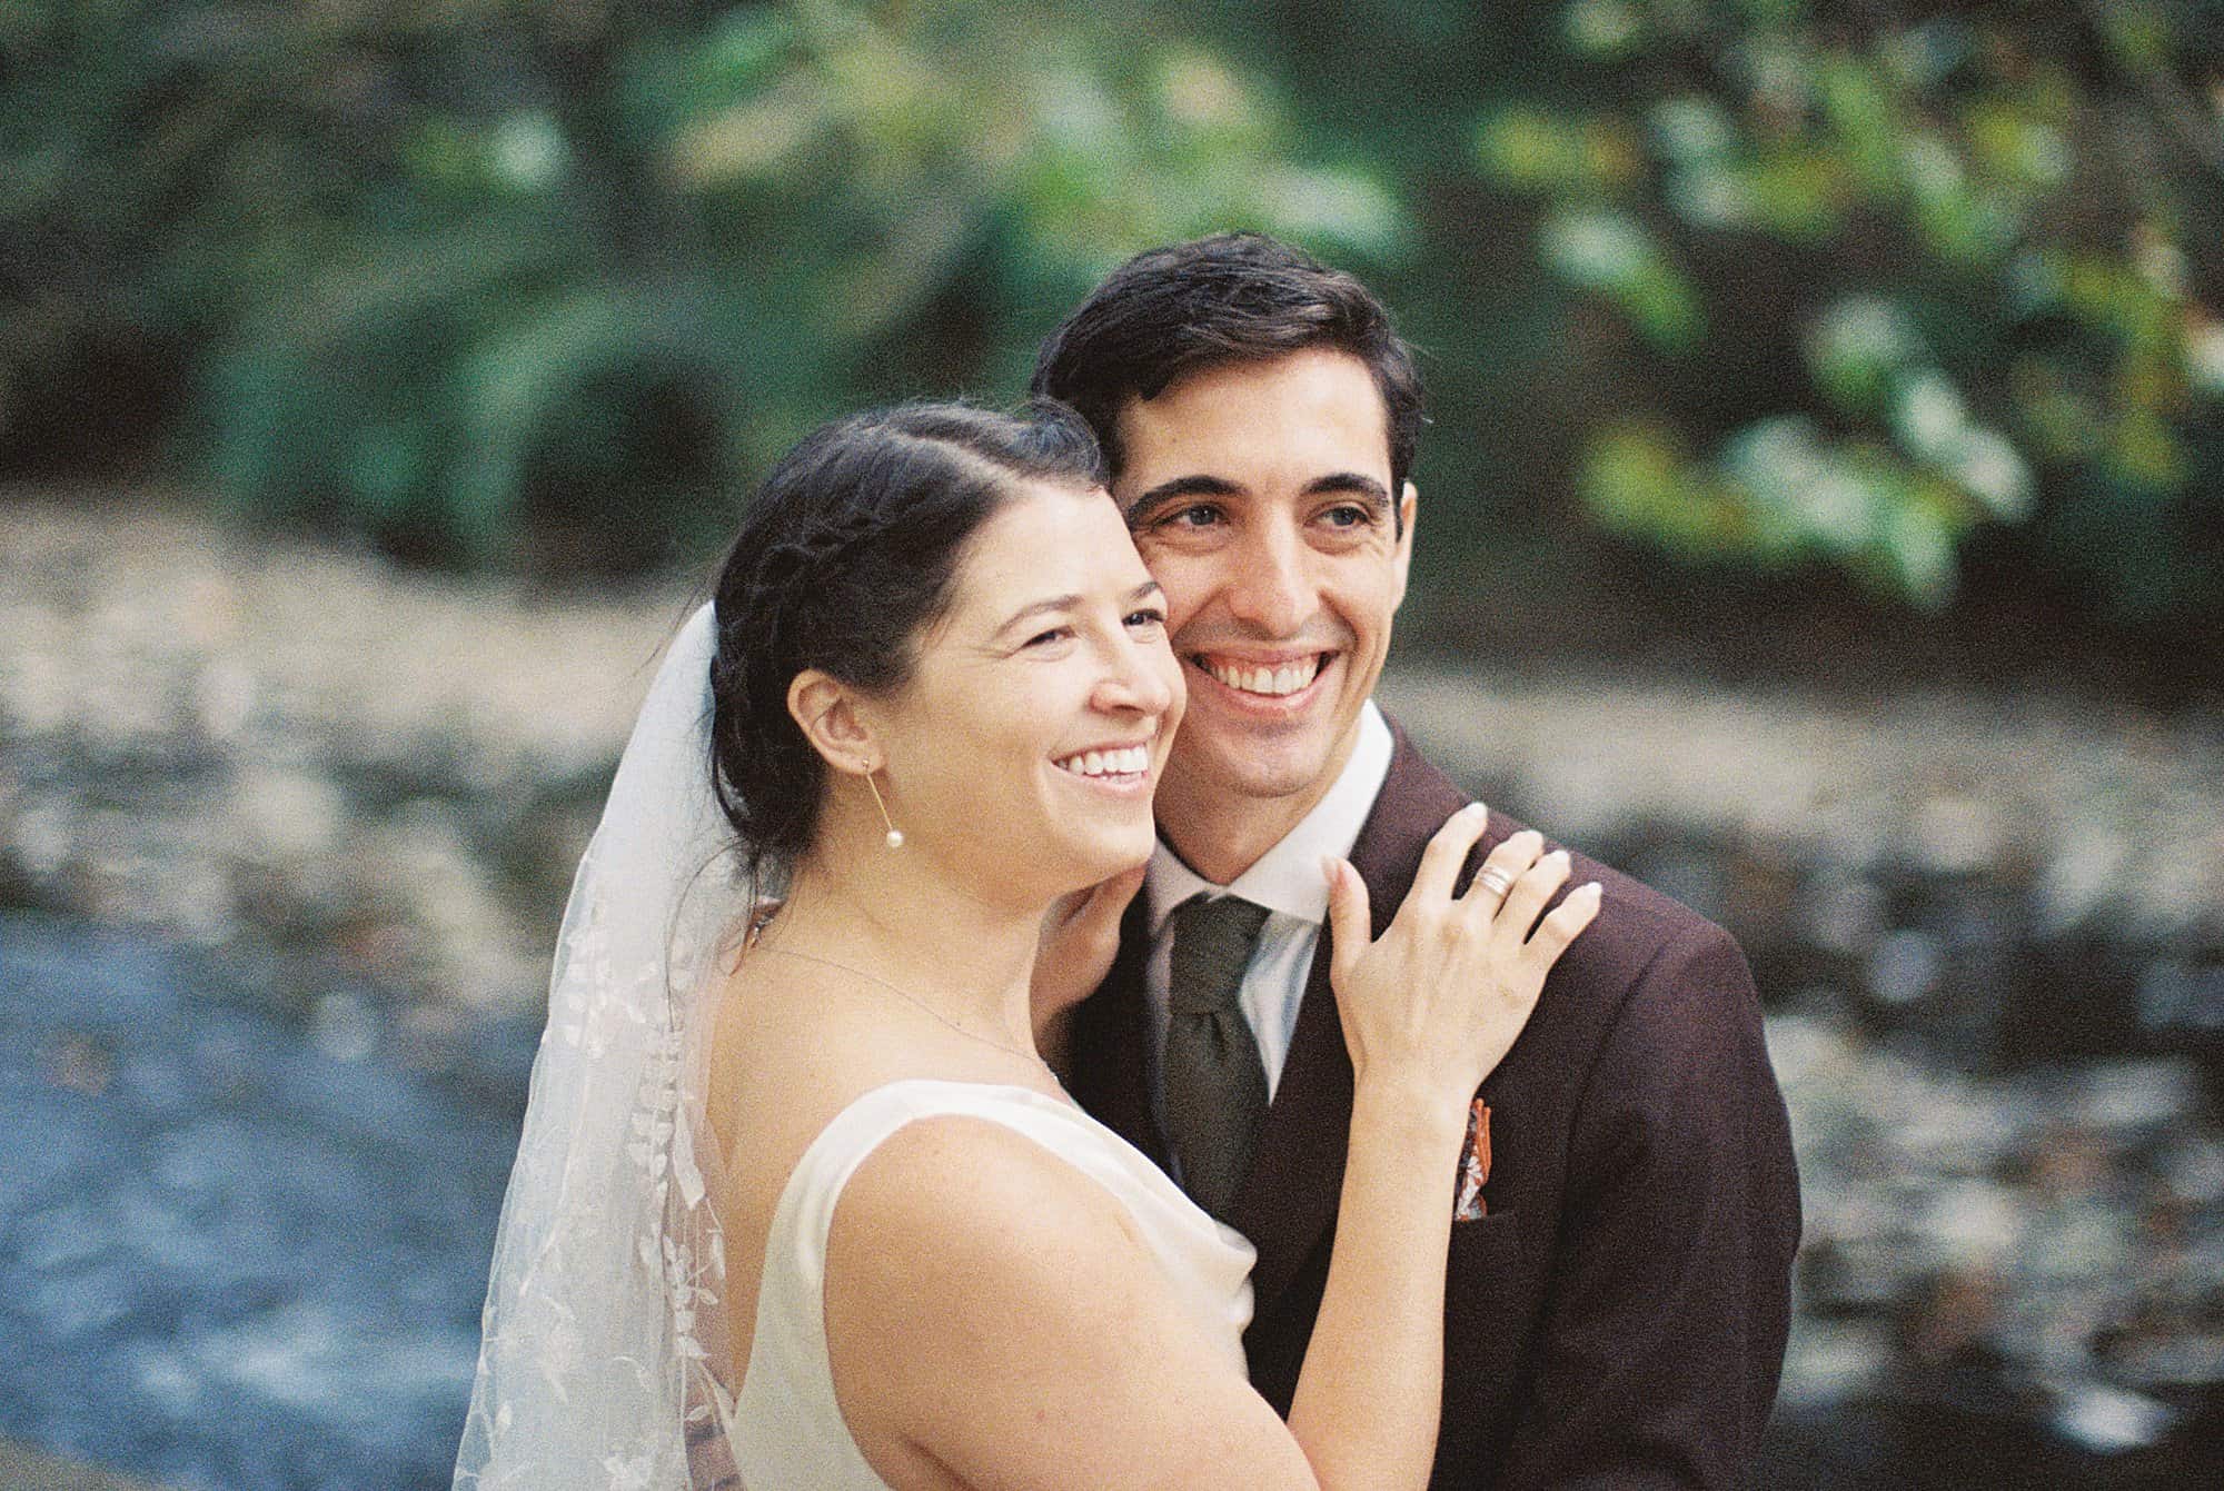
[[580, 863], [458, 1487], [1428, 1482], [1468, 1102], [1597, 899], [1543, 915], [1532, 839], [1454, 895], [1479, 810], [1381, 939], [1323, 866], [1354, 1104], [1283, 1422], [1250, 1244], [1036, 1046], [1181, 703], [1061, 407], [863, 414], [774, 470]]

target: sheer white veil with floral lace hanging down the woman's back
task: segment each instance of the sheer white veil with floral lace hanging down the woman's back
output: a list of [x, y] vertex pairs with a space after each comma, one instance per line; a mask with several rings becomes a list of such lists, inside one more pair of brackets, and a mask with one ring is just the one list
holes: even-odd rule
[[698, 1128], [705, 975], [743, 904], [709, 790], [714, 636], [703, 605], [672, 641], [572, 883], [458, 1491], [738, 1484]]

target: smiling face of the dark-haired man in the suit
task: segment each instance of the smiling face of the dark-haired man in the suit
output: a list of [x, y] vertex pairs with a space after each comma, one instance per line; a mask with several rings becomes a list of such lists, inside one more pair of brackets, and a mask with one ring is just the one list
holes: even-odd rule
[[1412, 490], [1390, 490], [1374, 376], [1328, 349], [1208, 367], [1119, 436], [1112, 496], [1190, 692], [1161, 821], [1254, 801], [1288, 828], [1350, 757], [1406, 596]]

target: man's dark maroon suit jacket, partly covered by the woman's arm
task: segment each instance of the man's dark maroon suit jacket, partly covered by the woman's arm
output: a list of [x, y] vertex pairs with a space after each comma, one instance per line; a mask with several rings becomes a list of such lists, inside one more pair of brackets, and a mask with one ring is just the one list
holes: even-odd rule
[[[1352, 848], [1377, 937], [1421, 848], [1463, 803], [1399, 730]], [[1479, 855], [1519, 828], [1492, 812]], [[1721, 928], [1575, 855], [1570, 886], [1586, 879], [1606, 890], [1599, 917], [1481, 1088], [1488, 1215], [1452, 1224], [1432, 1484], [1744, 1487], [1784, 1364], [1799, 1244], [1799, 1177], [1759, 1001]], [[1072, 1093], [1163, 1166], [1141, 904], [1112, 975], [1076, 1013]], [[1243, 1346], [1283, 1413], [1328, 1282], [1350, 1110], [1323, 930], [1234, 1208], [1259, 1248]]]

